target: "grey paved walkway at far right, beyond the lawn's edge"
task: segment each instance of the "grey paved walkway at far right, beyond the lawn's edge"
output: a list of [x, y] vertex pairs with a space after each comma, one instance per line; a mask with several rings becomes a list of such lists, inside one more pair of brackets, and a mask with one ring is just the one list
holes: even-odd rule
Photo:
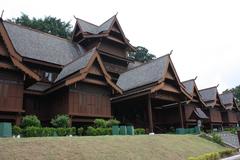
[[235, 134], [231, 134], [230, 132], [221, 132], [219, 135], [222, 138], [222, 141], [234, 148], [239, 148], [238, 137]]

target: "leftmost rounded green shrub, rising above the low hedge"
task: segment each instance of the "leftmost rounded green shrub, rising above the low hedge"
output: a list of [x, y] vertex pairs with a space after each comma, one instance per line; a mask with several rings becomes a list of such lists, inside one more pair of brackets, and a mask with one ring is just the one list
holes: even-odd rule
[[34, 115], [28, 115], [23, 117], [22, 120], [22, 127], [27, 128], [27, 127], [40, 127], [41, 122], [37, 118], [37, 116]]

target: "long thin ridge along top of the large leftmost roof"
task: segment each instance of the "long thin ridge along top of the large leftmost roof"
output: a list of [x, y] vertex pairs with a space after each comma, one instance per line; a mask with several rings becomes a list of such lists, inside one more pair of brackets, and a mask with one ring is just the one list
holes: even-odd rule
[[50, 33], [46, 33], [46, 32], [43, 32], [41, 30], [38, 30], [38, 29], [34, 29], [34, 28], [31, 28], [29, 26], [24, 26], [24, 25], [21, 25], [21, 24], [17, 24], [17, 23], [14, 23], [14, 22], [9, 22], [9, 21], [3, 21], [4, 23], [9, 23], [9, 24], [12, 24], [12, 25], [15, 25], [17, 27], [20, 27], [20, 28], [23, 28], [23, 29], [27, 29], [27, 30], [30, 30], [30, 31], [33, 31], [33, 32], [37, 32], [37, 33], [40, 33], [40, 34], [44, 34], [44, 35], [47, 35], [47, 36], [52, 36], [52, 37], [55, 37], [55, 38], [58, 38], [60, 40], [64, 40], [64, 41], [67, 41], [69, 43], [72, 43], [71, 40], [67, 39], [67, 38], [62, 38], [62, 37], [59, 37], [59, 36], [56, 36], [56, 35], [52, 35]]

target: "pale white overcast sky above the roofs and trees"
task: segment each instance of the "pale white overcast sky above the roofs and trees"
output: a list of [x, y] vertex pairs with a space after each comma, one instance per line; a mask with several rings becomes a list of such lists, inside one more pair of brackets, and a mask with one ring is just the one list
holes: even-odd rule
[[181, 80], [198, 76], [199, 89], [240, 84], [238, 0], [1, 0], [4, 19], [73, 16], [100, 25], [118, 12], [126, 37], [157, 57], [169, 53]]

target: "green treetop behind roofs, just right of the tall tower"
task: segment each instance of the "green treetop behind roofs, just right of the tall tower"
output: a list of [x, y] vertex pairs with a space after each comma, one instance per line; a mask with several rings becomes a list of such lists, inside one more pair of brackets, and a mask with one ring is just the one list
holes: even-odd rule
[[142, 46], [137, 46], [135, 52], [130, 52], [129, 57], [133, 58], [140, 62], [148, 62], [154, 58], [156, 58], [155, 55], [148, 52], [148, 49]]

